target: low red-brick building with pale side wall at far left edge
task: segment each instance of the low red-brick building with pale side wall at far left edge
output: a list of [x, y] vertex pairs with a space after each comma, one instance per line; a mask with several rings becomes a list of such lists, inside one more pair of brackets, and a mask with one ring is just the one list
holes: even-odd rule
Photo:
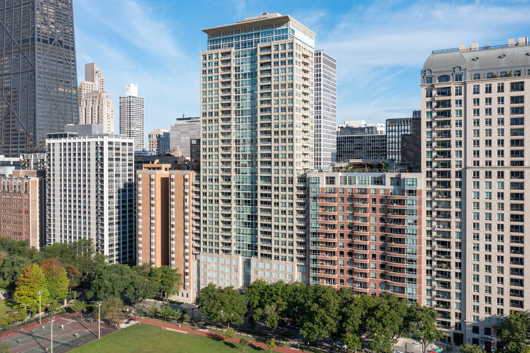
[[27, 241], [29, 248], [40, 249], [45, 223], [44, 178], [37, 171], [16, 170], [0, 177], [0, 183], [2, 236]]

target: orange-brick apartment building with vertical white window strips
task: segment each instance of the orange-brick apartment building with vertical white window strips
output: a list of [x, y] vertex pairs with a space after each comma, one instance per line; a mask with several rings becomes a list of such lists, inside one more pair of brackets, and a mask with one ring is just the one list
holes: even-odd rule
[[192, 199], [195, 172], [171, 170], [170, 164], [144, 164], [136, 172], [137, 262], [178, 268], [183, 287], [179, 300], [195, 299], [190, 273], [195, 271], [191, 254]]

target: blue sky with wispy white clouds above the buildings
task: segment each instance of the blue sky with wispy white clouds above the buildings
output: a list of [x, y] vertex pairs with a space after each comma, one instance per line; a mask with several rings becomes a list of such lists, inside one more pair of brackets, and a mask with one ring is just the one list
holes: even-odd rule
[[[101, 11], [101, 9], [105, 11]], [[338, 122], [382, 122], [419, 109], [419, 74], [432, 50], [530, 36], [530, 3], [492, 1], [75, 0], [78, 80], [95, 62], [114, 100], [126, 83], [145, 98], [145, 133], [199, 113], [201, 29], [262, 12], [291, 15], [337, 58]]]

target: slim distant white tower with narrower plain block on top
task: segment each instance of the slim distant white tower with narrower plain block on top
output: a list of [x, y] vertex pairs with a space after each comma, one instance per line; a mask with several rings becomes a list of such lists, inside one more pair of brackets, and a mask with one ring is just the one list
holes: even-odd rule
[[120, 134], [134, 139], [135, 151], [145, 150], [144, 99], [138, 96], [138, 85], [125, 85], [125, 95], [120, 97]]

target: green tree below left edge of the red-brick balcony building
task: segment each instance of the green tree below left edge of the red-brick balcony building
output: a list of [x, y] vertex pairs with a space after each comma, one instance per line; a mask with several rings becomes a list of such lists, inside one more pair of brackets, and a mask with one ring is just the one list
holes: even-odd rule
[[308, 340], [333, 336], [338, 330], [340, 299], [329, 286], [307, 287], [307, 302], [301, 319], [300, 333]]

